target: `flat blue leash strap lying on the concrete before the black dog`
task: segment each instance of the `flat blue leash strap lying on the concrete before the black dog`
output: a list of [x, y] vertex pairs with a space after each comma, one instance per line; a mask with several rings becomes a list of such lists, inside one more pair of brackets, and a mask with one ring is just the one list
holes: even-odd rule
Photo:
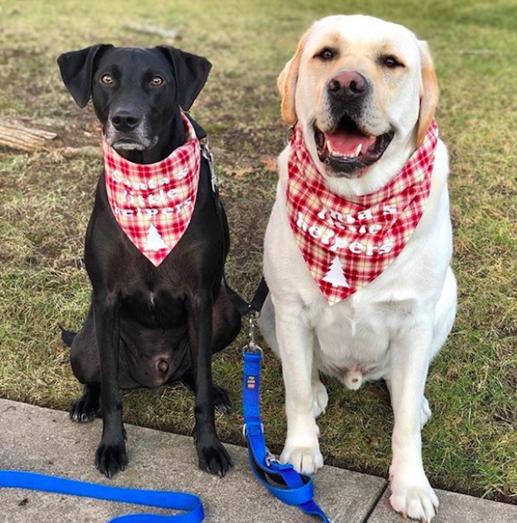
[[205, 514], [201, 499], [194, 494], [170, 491], [140, 490], [112, 487], [95, 483], [69, 480], [33, 472], [0, 470], [0, 488], [28, 488], [56, 494], [106, 499], [118, 503], [134, 503], [150, 507], [188, 511], [185, 514], [163, 516], [158, 514], [128, 514], [110, 519], [109, 523], [200, 523]]

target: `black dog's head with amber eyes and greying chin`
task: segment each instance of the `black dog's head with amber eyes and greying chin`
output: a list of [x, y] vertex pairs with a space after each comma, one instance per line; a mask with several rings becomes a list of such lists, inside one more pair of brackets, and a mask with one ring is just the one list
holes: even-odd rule
[[211, 67], [205, 58], [172, 47], [105, 44], [64, 53], [58, 64], [77, 105], [92, 98], [108, 143], [130, 160], [147, 158], [145, 163], [183, 143], [180, 108], [190, 108]]

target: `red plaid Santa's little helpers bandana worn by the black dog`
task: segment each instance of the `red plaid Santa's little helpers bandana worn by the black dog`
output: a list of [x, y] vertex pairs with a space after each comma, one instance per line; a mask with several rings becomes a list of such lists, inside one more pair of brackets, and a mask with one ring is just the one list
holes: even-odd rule
[[192, 124], [185, 115], [182, 118], [185, 143], [154, 164], [131, 163], [101, 138], [111, 211], [155, 267], [187, 230], [196, 204], [201, 152]]

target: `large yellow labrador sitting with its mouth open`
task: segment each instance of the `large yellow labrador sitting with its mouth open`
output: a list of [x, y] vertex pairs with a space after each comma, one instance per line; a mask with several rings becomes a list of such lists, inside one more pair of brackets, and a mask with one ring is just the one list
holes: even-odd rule
[[[316, 176], [325, 190], [345, 200], [375, 195], [399, 176], [430, 132], [438, 96], [427, 44], [400, 25], [359, 15], [315, 22], [278, 87], [282, 116], [289, 125], [297, 122]], [[282, 360], [287, 438], [281, 460], [306, 473], [323, 465], [315, 419], [325, 411], [328, 395], [320, 371], [351, 389], [382, 378], [395, 415], [390, 502], [404, 516], [426, 521], [439, 503], [421, 457], [421, 428], [431, 416], [424, 386], [456, 313], [447, 150], [439, 139], [434, 143], [430, 190], [405, 247], [381, 274], [333, 304], [293, 232], [286, 194], [297, 167], [291, 165], [293, 142], [287, 145], [278, 158], [277, 195], [265, 236], [264, 274], [271, 292], [260, 319]], [[330, 212], [339, 217], [339, 210]], [[341, 225], [352, 222], [348, 215]], [[319, 226], [298, 225], [314, 237], [323, 234]], [[333, 233], [327, 234], [328, 240]], [[334, 251], [342, 251], [346, 265], [347, 253], [361, 245], [350, 244], [347, 251], [344, 242]], [[377, 247], [365, 248], [375, 254]], [[334, 269], [327, 275], [331, 290], [347, 285]]]

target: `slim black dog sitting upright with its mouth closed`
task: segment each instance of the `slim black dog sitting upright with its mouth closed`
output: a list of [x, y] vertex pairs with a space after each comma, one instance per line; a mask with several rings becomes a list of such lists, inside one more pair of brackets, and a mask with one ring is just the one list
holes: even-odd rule
[[[80, 107], [92, 98], [107, 142], [133, 163], [163, 160], [185, 141], [181, 108], [203, 88], [211, 64], [169, 47], [96, 45], [58, 59], [66, 88]], [[198, 136], [203, 130], [193, 122]], [[211, 356], [239, 333], [240, 315], [221, 285], [229, 248], [226, 215], [201, 158], [196, 204], [188, 229], [155, 267], [131, 243], [109, 206], [100, 177], [85, 241], [91, 306], [75, 336], [72, 368], [84, 384], [71, 409], [77, 422], [102, 405], [103, 436], [95, 463], [111, 476], [127, 464], [119, 387], [156, 387], [181, 380], [195, 391], [194, 440], [199, 467], [224, 475], [231, 459], [215, 428], [214, 404], [229, 408], [212, 385]]]

